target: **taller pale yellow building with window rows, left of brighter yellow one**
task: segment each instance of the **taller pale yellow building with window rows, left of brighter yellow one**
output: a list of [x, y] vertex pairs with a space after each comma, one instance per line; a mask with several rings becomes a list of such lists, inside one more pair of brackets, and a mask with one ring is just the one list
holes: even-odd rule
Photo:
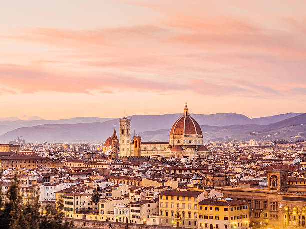
[[204, 192], [166, 190], [159, 193], [159, 225], [198, 227], [198, 202]]

